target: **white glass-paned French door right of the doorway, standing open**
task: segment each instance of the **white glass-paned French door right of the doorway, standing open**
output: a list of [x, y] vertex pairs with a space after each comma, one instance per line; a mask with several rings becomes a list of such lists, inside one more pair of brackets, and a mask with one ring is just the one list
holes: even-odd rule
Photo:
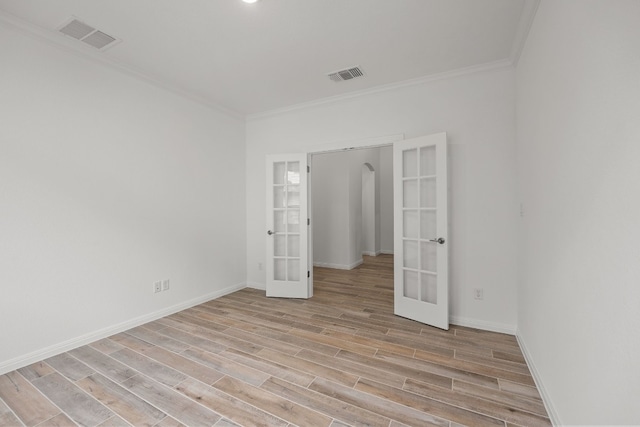
[[447, 135], [393, 144], [394, 312], [449, 329]]

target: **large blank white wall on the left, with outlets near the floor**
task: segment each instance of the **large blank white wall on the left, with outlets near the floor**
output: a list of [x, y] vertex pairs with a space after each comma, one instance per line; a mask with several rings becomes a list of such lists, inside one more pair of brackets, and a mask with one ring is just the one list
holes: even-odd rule
[[0, 58], [0, 372], [242, 285], [242, 121], [4, 24]]

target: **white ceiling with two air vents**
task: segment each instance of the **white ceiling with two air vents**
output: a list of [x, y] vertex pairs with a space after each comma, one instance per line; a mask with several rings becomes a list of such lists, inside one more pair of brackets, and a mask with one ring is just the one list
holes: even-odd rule
[[[538, 1], [0, 0], [0, 23], [245, 117], [515, 62]], [[57, 32], [72, 16], [122, 41]], [[353, 66], [364, 77], [327, 77]]]

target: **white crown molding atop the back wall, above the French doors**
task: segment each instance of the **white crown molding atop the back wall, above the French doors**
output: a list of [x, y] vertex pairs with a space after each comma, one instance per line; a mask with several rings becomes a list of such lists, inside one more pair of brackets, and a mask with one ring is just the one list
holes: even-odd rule
[[428, 76], [418, 77], [416, 79], [405, 80], [397, 83], [390, 83], [386, 85], [376, 86], [369, 89], [349, 92], [342, 95], [330, 96], [326, 98], [317, 99], [314, 101], [303, 102], [300, 104], [291, 105], [289, 107], [278, 108], [275, 110], [265, 111], [262, 113], [248, 114], [246, 117], [247, 122], [259, 119], [270, 118], [278, 116], [280, 114], [286, 114], [293, 111], [304, 110], [306, 108], [317, 107], [324, 104], [338, 103], [347, 99], [358, 98], [365, 95], [372, 95], [380, 92], [391, 91], [407, 86], [417, 86], [424, 83], [429, 83], [438, 80], [445, 80], [458, 76], [465, 76], [468, 74], [482, 73], [485, 71], [497, 70], [501, 68], [513, 67], [511, 61], [508, 59], [502, 59], [500, 61], [488, 62], [486, 64], [473, 65], [470, 67], [458, 68], [457, 70], [446, 71], [444, 73], [431, 74]]

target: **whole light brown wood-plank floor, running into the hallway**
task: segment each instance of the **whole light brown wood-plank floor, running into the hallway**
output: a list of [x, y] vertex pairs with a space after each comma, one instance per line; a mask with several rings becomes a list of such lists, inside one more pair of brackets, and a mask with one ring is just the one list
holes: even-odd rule
[[244, 289], [0, 376], [0, 425], [549, 426], [513, 336], [393, 313], [391, 256]]

